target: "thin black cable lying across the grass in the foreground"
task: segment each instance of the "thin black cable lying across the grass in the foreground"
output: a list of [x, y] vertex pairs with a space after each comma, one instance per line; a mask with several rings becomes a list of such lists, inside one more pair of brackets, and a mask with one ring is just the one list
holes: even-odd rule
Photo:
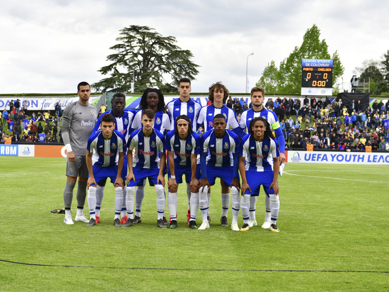
[[174, 268], [142, 268], [142, 267], [92, 267], [92, 266], [64, 266], [64, 265], [47, 265], [47, 264], [29, 264], [24, 262], [12, 262], [11, 260], [2, 260], [12, 264], [21, 264], [29, 266], [44, 267], [89, 267], [93, 269], [131, 269], [131, 270], [173, 270], [173, 271], [230, 271], [230, 272], [328, 272], [328, 273], [389, 273], [389, 271], [323, 271], [323, 270], [254, 270], [254, 269], [174, 269]]

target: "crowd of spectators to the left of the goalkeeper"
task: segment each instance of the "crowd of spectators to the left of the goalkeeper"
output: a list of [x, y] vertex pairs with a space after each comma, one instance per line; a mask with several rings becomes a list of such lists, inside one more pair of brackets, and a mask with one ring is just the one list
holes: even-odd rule
[[[27, 102], [20, 107], [20, 100], [11, 100], [9, 109], [0, 111], [0, 134], [1, 142], [42, 142], [39, 134], [44, 134], [42, 139], [46, 143], [62, 142], [61, 132], [58, 133], [58, 124], [62, 116], [60, 104], [55, 105], [55, 114], [51, 111], [40, 111], [31, 116], [26, 114]], [[7, 130], [7, 132], [6, 132]], [[42, 135], [41, 135], [42, 136]]]

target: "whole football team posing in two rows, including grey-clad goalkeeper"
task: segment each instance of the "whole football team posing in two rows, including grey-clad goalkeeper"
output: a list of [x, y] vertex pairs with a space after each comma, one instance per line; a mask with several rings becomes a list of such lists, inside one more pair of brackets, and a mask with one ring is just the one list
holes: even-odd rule
[[[100, 220], [111, 220], [100, 219], [110, 179], [115, 190], [114, 226], [132, 227], [142, 222], [144, 196], [155, 196], [145, 194], [149, 183], [156, 192], [157, 226], [177, 228], [178, 200], [184, 199], [177, 196], [177, 190], [185, 182], [187, 225], [209, 229], [211, 186], [220, 181], [221, 226], [234, 231], [256, 226], [256, 201], [262, 186], [265, 220], [261, 228], [280, 232], [278, 176], [286, 165], [285, 138], [277, 115], [263, 105], [264, 89], [251, 89], [252, 107], [243, 111], [238, 122], [235, 111], [226, 106], [229, 91], [222, 83], [209, 87], [209, 104], [203, 107], [190, 98], [190, 79], [182, 78], [178, 84], [179, 98], [166, 105], [159, 89], [147, 88], [138, 111], [126, 109], [126, 96], [115, 93], [108, 101], [112, 109], [100, 116], [88, 102], [90, 85], [78, 84], [79, 100], [67, 106], [62, 117], [67, 150], [65, 224], [80, 221], [93, 227]], [[77, 177], [77, 214], [73, 218]], [[86, 200], [90, 218], [83, 211]], [[230, 204], [232, 220], [228, 219]], [[202, 223], [198, 226], [199, 209]], [[244, 222], [241, 227], [239, 210]]]

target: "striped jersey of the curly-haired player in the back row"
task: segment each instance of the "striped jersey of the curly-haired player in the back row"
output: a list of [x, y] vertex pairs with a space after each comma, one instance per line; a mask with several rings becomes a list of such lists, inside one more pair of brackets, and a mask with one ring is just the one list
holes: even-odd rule
[[223, 116], [226, 118], [226, 129], [228, 129], [230, 126], [233, 129], [239, 127], [237, 117], [235, 116], [235, 111], [226, 107], [225, 104], [223, 104], [223, 107], [221, 108], [217, 108], [213, 104], [210, 104], [209, 106], [203, 106], [200, 109], [200, 114], [198, 115], [197, 119], [198, 126], [204, 123], [204, 131], [207, 132], [210, 128], [213, 127], [213, 120], [216, 114], [223, 114]]

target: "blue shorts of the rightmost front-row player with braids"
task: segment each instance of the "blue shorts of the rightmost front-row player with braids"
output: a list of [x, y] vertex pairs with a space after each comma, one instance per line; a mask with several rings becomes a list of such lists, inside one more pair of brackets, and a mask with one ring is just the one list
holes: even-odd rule
[[273, 195], [273, 188], [269, 190], [270, 185], [273, 182], [273, 176], [273, 171], [246, 171], [246, 180], [250, 186], [251, 192], [246, 190], [245, 193], [251, 194], [251, 197], [258, 196], [261, 185], [263, 185], [263, 190], [265, 191], [266, 195]]

